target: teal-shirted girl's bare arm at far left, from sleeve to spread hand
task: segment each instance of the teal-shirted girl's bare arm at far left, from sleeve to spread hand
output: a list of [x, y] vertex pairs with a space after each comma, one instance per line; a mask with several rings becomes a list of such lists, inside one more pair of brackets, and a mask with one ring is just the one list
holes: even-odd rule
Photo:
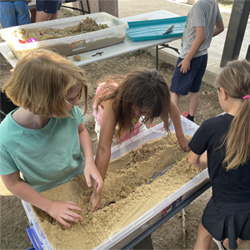
[[78, 220], [82, 218], [82, 216], [77, 213], [81, 213], [82, 209], [79, 208], [76, 203], [71, 201], [54, 201], [42, 196], [20, 178], [19, 171], [2, 175], [1, 177], [4, 185], [11, 193], [42, 209], [62, 225], [69, 227], [70, 224], [67, 223], [67, 221], [78, 222]]

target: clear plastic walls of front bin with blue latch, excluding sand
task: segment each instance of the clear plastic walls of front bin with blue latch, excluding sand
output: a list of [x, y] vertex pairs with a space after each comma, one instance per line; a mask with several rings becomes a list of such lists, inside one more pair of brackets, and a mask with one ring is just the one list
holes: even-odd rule
[[[189, 121], [188, 119], [181, 116], [182, 127], [184, 134], [193, 135], [198, 128], [198, 125]], [[174, 127], [171, 123], [170, 130], [173, 131]], [[163, 123], [160, 123], [149, 130], [146, 130], [137, 136], [123, 142], [121, 145], [117, 145], [111, 150], [111, 159], [119, 158], [122, 155], [126, 154], [131, 149], [139, 147], [141, 144], [149, 141], [151, 139], [160, 138], [166, 134], [163, 127]], [[155, 224], [157, 221], [166, 216], [170, 211], [174, 210], [178, 205], [183, 201], [189, 198], [202, 186], [206, 185], [209, 182], [207, 169], [197, 175], [195, 178], [187, 182], [176, 192], [166, 197], [162, 202], [157, 204], [155, 207], [150, 209], [148, 212], [140, 216], [138, 219], [133, 221], [125, 228], [121, 229], [118, 233], [114, 234], [112, 237], [101, 243], [95, 248], [95, 250], [103, 249], [121, 249], [132, 240], [134, 240], [138, 235], [146, 231], [150, 226]], [[24, 209], [26, 211], [27, 217], [29, 219], [33, 236], [37, 237], [36, 242], [39, 242], [41, 248], [44, 250], [52, 250], [50, 243], [48, 242], [45, 234], [42, 231], [42, 228], [37, 221], [37, 218], [34, 214], [33, 209], [30, 204], [22, 201]]]

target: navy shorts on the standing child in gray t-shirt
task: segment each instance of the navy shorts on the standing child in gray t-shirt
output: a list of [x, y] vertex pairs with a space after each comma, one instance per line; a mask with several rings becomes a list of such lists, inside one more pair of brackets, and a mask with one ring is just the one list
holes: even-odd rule
[[170, 91], [177, 95], [187, 95], [189, 91], [197, 93], [200, 90], [202, 77], [206, 71], [207, 54], [193, 58], [190, 70], [186, 74], [180, 72], [180, 67], [178, 67], [182, 60], [183, 58], [180, 57], [177, 60]]

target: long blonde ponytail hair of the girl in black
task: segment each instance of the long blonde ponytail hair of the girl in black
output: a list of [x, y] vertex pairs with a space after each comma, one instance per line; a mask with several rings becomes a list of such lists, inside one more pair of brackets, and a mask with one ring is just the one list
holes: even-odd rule
[[[217, 77], [216, 87], [222, 87], [232, 98], [242, 99], [250, 94], [250, 63], [247, 60], [229, 62]], [[223, 165], [236, 169], [250, 157], [250, 99], [242, 101], [223, 144], [226, 154]]]

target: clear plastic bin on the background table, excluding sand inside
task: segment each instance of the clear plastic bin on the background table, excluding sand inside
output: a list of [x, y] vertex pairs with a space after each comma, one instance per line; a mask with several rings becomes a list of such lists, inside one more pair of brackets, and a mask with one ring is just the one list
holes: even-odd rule
[[[87, 17], [94, 19], [98, 24], [107, 24], [109, 28], [75, 36], [49, 39], [25, 44], [21, 44], [18, 39], [12, 34], [15, 30], [24, 28], [63, 29], [68, 26], [77, 25]], [[108, 13], [100, 12], [89, 15], [67, 17], [52, 21], [5, 28], [0, 30], [0, 35], [7, 42], [10, 49], [18, 59], [20, 59], [21, 55], [24, 52], [37, 48], [53, 49], [59, 54], [69, 56], [123, 42], [126, 37], [127, 26], [128, 25], [126, 22]]]

